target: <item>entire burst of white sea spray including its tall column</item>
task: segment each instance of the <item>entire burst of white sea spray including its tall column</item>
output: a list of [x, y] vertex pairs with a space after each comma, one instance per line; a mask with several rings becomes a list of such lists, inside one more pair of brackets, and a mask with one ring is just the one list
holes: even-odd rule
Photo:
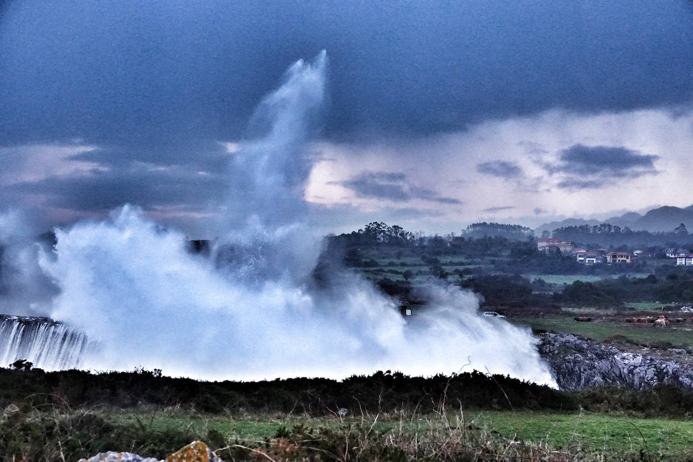
[[310, 283], [319, 246], [304, 226], [306, 141], [324, 100], [326, 55], [297, 62], [263, 100], [231, 166], [225, 236], [213, 258], [186, 251], [125, 206], [103, 222], [57, 231], [42, 268], [60, 287], [51, 316], [98, 350], [90, 368], [162, 368], [208, 379], [346, 377], [378, 369], [470, 370], [554, 381], [527, 329], [478, 314], [474, 294], [430, 287], [405, 319], [376, 287], [344, 272]]

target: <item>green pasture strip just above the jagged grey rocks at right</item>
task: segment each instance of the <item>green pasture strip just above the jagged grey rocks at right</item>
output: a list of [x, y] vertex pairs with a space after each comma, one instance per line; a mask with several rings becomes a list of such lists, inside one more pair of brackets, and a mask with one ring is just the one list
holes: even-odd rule
[[576, 322], [572, 317], [514, 317], [511, 323], [533, 329], [554, 330], [583, 335], [596, 341], [604, 341], [614, 335], [623, 335], [638, 343], [656, 344], [668, 341], [676, 346], [693, 346], [693, 332], [683, 328], [654, 328], [651, 324], [626, 324], [617, 322]]

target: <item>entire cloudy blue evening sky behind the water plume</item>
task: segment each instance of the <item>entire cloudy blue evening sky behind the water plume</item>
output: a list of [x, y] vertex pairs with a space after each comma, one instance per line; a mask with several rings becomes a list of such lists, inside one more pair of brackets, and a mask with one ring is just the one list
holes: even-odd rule
[[254, 107], [322, 49], [324, 232], [693, 204], [691, 1], [5, 0], [0, 211], [213, 237]]

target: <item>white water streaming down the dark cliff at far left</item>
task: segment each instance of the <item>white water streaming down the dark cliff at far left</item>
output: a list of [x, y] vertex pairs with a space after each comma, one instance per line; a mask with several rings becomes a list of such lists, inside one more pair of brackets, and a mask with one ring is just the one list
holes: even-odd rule
[[0, 367], [26, 359], [46, 371], [79, 368], [87, 336], [43, 317], [0, 314]]

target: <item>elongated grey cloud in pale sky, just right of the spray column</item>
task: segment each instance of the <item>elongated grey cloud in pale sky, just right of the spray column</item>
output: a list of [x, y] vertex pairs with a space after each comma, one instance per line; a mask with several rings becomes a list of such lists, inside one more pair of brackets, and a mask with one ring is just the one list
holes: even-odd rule
[[423, 199], [439, 204], [462, 204], [454, 197], [441, 197], [434, 190], [409, 184], [407, 177], [398, 172], [362, 172], [339, 184], [351, 189], [359, 197], [371, 199], [389, 199], [394, 202]]

